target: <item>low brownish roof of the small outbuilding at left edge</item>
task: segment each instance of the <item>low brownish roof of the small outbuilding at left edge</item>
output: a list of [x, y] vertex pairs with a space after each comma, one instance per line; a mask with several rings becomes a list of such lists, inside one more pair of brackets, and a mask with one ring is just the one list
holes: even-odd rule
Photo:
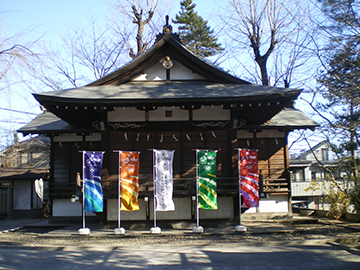
[[44, 178], [49, 168], [0, 168], [0, 180], [35, 180]]

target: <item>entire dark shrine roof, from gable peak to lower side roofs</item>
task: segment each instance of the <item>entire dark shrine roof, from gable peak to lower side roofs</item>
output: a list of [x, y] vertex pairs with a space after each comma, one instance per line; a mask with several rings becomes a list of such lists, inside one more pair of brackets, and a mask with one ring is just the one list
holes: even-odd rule
[[[167, 56], [199, 74], [204, 80], [133, 80]], [[138, 110], [153, 110], [159, 106], [199, 109], [202, 105], [232, 108], [234, 118], [242, 119], [248, 125], [259, 126], [284, 108], [292, 107], [300, 93], [301, 89], [254, 85], [236, 78], [197, 57], [171, 35], [165, 35], [129, 64], [87, 86], [34, 94], [58, 119], [50, 119], [49, 115], [41, 116], [41, 119], [35, 119], [19, 131], [47, 132], [55, 127], [59, 131], [87, 131], [92, 129], [93, 123], [103, 122], [108, 111], [118, 107], [136, 107]], [[294, 117], [294, 113], [292, 115]], [[305, 119], [299, 115], [296, 117], [298, 121]], [[267, 126], [291, 128], [291, 120], [285, 120], [280, 115]], [[298, 123], [301, 128], [308, 125], [312, 127], [313, 123]]]

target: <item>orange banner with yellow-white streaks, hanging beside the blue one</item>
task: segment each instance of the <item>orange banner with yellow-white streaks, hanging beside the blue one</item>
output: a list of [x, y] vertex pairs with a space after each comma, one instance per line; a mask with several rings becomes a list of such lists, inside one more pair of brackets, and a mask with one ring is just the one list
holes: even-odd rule
[[139, 153], [121, 152], [121, 210], [139, 210]]

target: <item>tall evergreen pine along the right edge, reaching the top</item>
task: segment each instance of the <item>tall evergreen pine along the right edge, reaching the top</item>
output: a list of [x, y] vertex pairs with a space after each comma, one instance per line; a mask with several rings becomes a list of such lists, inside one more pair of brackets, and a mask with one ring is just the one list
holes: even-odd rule
[[[331, 30], [326, 72], [318, 81], [324, 109], [332, 117], [331, 126], [345, 133], [340, 148], [350, 152], [352, 176], [359, 177], [359, 160], [355, 151], [360, 146], [360, 16], [358, 0], [319, 0]], [[341, 133], [340, 133], [341, 134]], [[359, 194], [360, 198], [360, 194]], [[359, 201], [360, 204], [360, 201]], [[360, 207], [359, 207], [360, 210]]]

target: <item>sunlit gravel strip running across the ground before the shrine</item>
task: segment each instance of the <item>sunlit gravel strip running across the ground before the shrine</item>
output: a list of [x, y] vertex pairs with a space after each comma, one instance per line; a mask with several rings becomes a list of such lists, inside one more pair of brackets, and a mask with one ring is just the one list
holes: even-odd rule
[[[72, 236], [44, 237], [44, 229], [19, 230], [0, 233], [1, 246], [141, 246], [141, 245], [206, 245], [214, 243], [265, 244], [276, 241], [322, 240], [360, 247], [360, 231], [334, 224], [297, 224], [286, 222], [294, 232], [281, 233], [231, 233], [231, 234], [185, 234], [185, 235], [144, 235], [144, 236]], [[290, 243], [289, 243], [290, 244]], [[359, 249], [360, 250], [360, 249]]]

